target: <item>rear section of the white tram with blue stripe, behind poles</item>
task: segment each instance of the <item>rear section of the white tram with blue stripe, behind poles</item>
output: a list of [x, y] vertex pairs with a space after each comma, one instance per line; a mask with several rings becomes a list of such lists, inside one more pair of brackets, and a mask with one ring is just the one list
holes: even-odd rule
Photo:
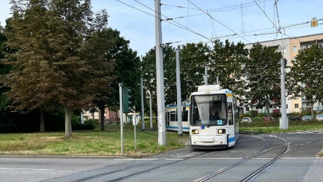
[[[181, 108], [183, 132], [190, 132], [190, 124], [188, 122], [190, 103], [184, 101]], [[165, 108], [165, 115], [166, 131], [178, 131], [177, 105], [167, 105]]]

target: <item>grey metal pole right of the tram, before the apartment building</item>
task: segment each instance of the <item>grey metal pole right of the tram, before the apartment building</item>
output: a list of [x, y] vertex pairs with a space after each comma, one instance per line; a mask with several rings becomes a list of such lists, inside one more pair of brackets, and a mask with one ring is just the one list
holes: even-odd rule
[[285, 64], [284, 58], [280, 59], [280, 70], [282, 72], [280, 77], [281, 100], [282, 100], [282, 123], [279, 123], [280, 129], [288, 129], [288, 120], [286, 121], [286, 98], [285, 98]]

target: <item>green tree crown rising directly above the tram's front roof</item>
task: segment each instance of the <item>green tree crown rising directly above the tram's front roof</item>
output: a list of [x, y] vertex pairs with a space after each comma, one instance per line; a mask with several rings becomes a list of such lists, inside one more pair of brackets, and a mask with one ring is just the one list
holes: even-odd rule
[[242, 96], [242, 63], [248, 59], [248, 49], [244, 48], [242, 42], [236, 45], [225, 40], [225, 43], [216, 40], [213, 51], [210, 53], [209, 64], [210, 82], [216, 82], [216, 77], [220, 81], [223, 89], [230, 89], [236, 95]]

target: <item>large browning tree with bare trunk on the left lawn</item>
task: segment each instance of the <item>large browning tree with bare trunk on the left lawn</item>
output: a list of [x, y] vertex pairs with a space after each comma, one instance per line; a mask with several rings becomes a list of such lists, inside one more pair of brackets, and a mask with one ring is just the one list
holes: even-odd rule
[[[96, 91], [112, 82], [111, 63], [104, 61], [110, 44], [100, 36], [107, 25], [95, 22], [91, 0], [11, 0], [12, 31], [8, 46], [17, 48], [6, 62], [13, 71], [1, 82], [13, 108], [65, 109], [65, 136], [72, 136], [71, 110], [90, 108]], [[13, 60], [14, 59], [14, 60]], [[19, 81], [19, 82], [17, 82]]]

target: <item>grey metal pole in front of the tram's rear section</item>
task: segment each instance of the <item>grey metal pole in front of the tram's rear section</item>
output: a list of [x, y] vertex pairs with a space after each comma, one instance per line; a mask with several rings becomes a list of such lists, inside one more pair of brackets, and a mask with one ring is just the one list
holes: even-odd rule
[[183, 124], [182, 124], [182, 96], [180, 95], [180, 49], [176, 48], [176, 86], [177, 86], [177, 125], [178, 136], [183, 136]]

